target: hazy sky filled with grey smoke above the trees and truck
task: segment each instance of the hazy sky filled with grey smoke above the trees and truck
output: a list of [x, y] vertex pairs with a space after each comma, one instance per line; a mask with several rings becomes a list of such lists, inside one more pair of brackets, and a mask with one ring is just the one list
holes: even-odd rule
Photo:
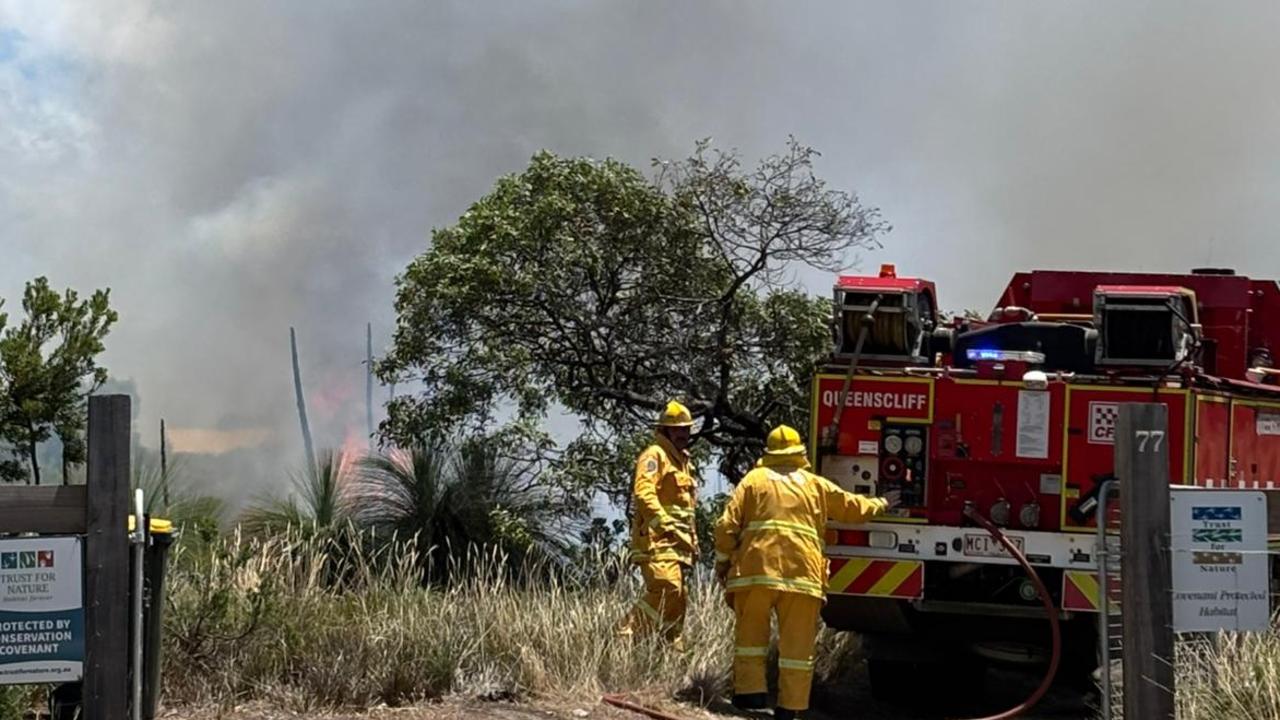
[[252, 455], [239, 496], [301, 457], [289, 327], [317, 445], [358, 439], [365, 323], [383, 347], [431, 228], [540, 149], [794, 135], [893, 225], [863, 268], [947, 309], [1032, 268], [1275, 277], [1277, 29], [1247, 1], [0, 0], [0, 297], [110, 287], [143, 443], [164, 418]]

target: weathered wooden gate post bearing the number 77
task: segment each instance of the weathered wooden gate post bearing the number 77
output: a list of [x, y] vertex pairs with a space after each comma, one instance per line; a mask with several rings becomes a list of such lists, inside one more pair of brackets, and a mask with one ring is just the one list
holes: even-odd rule
[[1124, 714], [1144, 720], [1174, 717], [1167, 427], [1165, 405], [1120, 405], [1115, 462], [1124, 514]]

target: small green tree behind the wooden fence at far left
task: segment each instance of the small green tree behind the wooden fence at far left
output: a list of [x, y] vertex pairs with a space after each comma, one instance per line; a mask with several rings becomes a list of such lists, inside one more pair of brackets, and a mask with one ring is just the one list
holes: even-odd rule
[[[12, 455], [0, 473], [40, 484], [40, 443], [56, 436], [65, 483], [67, 469], [86, 460], [86, 400], [106, 382], [97, 356], [118, 315], [110, 291], [81, 300], [74, 290], [58, 293], [42, 277], [27, 283], [22, 307], [22, 323], [0, 337], [0, 439]], [[0, 315], [0, 329], [5, 324]]]

